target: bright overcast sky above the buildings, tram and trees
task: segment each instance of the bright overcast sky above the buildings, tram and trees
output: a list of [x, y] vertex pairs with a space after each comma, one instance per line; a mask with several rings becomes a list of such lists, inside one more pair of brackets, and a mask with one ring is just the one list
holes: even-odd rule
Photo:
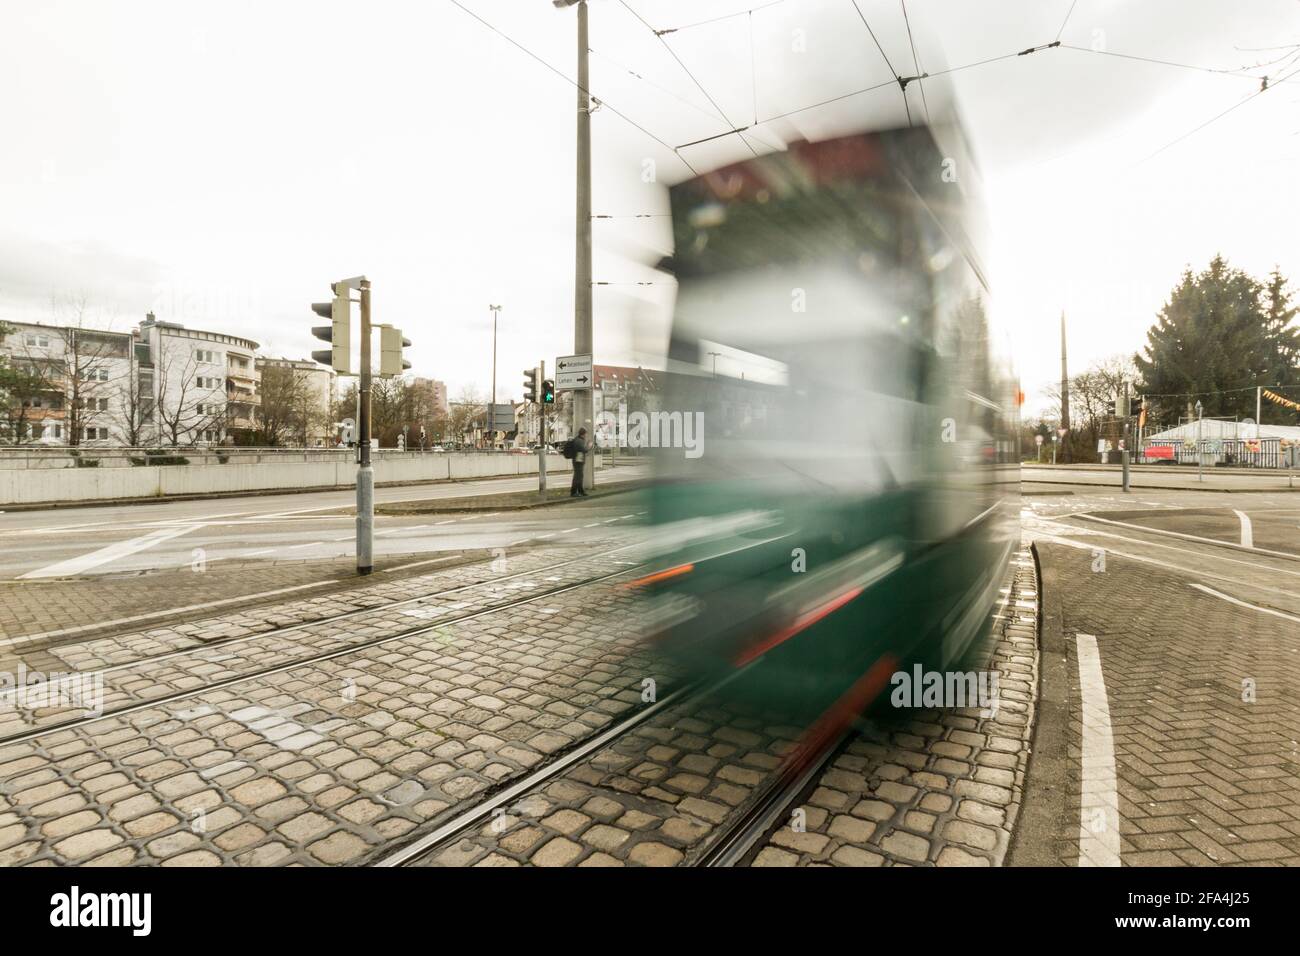
[[[575, 75], [573, 10], [463, 4]], [[898, 0], [858, 0], [884, 56], [853, 0], [629, 4], [684, 29], [666, 46], [619, 0], [590, 3], [592, 90], [645, 130], [594, 113], [597, 213], [662, 213], [664, 186], [689, 173], [651, 137], [727, 129], [673, 53], [736, 124], [887, 81], [887, 57], [914, 72]], [[365, 273], [376, 320], [402, 326], [415, 372], [454, 397], [488, 389], [489, 303], [503, 306], [502, 398], [520, 394], [519, 369], [571, 351], [573, 86], [448, 0], [0, 12], [0, 317], [53, 321], [52, 300], [84, 298], [110, 328], [152, 310], [302, 356], [308, 303]], [[1216, 252], [1300, 286], [1300, 77], [1242, 103], [1300, 61], [1212, 72], [1300, 43], [1297, 0], [910, 0], [906, 13], [932, 73], [1058, 31], [1066, 44], [950, 75], [1031, 410], [1058, 375], [1062, 310], [1082, 369], [1140, 347], [1183, 267]], [[896, 126], [904, 111], [885, 86], [766, 122], [751, 143]], [[749, 155], [738, 137], [681, 150], [701, 170]], [[598, 281], [656, 278], [666, 219], [594, 229]], [[654, 364], [671, 303], [671, 285], [598, 287], [597, 362]]]

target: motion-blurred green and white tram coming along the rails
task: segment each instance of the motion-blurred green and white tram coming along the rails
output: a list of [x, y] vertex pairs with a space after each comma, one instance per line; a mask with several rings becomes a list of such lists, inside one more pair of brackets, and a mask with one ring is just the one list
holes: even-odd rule
[[699, 436], [655, 453], [637, 587], [696, 672], [760, 662], [763, 693], [866, 705], [904, 666], [987, 656], [1019, 390], [944, 135], [797, 143], [671, 189], [660, 411]]

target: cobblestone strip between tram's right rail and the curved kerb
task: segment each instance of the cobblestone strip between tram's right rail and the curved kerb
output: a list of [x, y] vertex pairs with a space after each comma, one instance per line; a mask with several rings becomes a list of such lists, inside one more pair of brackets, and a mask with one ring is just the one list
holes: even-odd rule
[[919, 711], [863, 722], [815, 784], [803, 831], [779, 827], [757, 866], [1000, 865], [1015, 826], [1034, 732], [1037, 585], [1028, 550], [1013, 557], [992, 713]]

